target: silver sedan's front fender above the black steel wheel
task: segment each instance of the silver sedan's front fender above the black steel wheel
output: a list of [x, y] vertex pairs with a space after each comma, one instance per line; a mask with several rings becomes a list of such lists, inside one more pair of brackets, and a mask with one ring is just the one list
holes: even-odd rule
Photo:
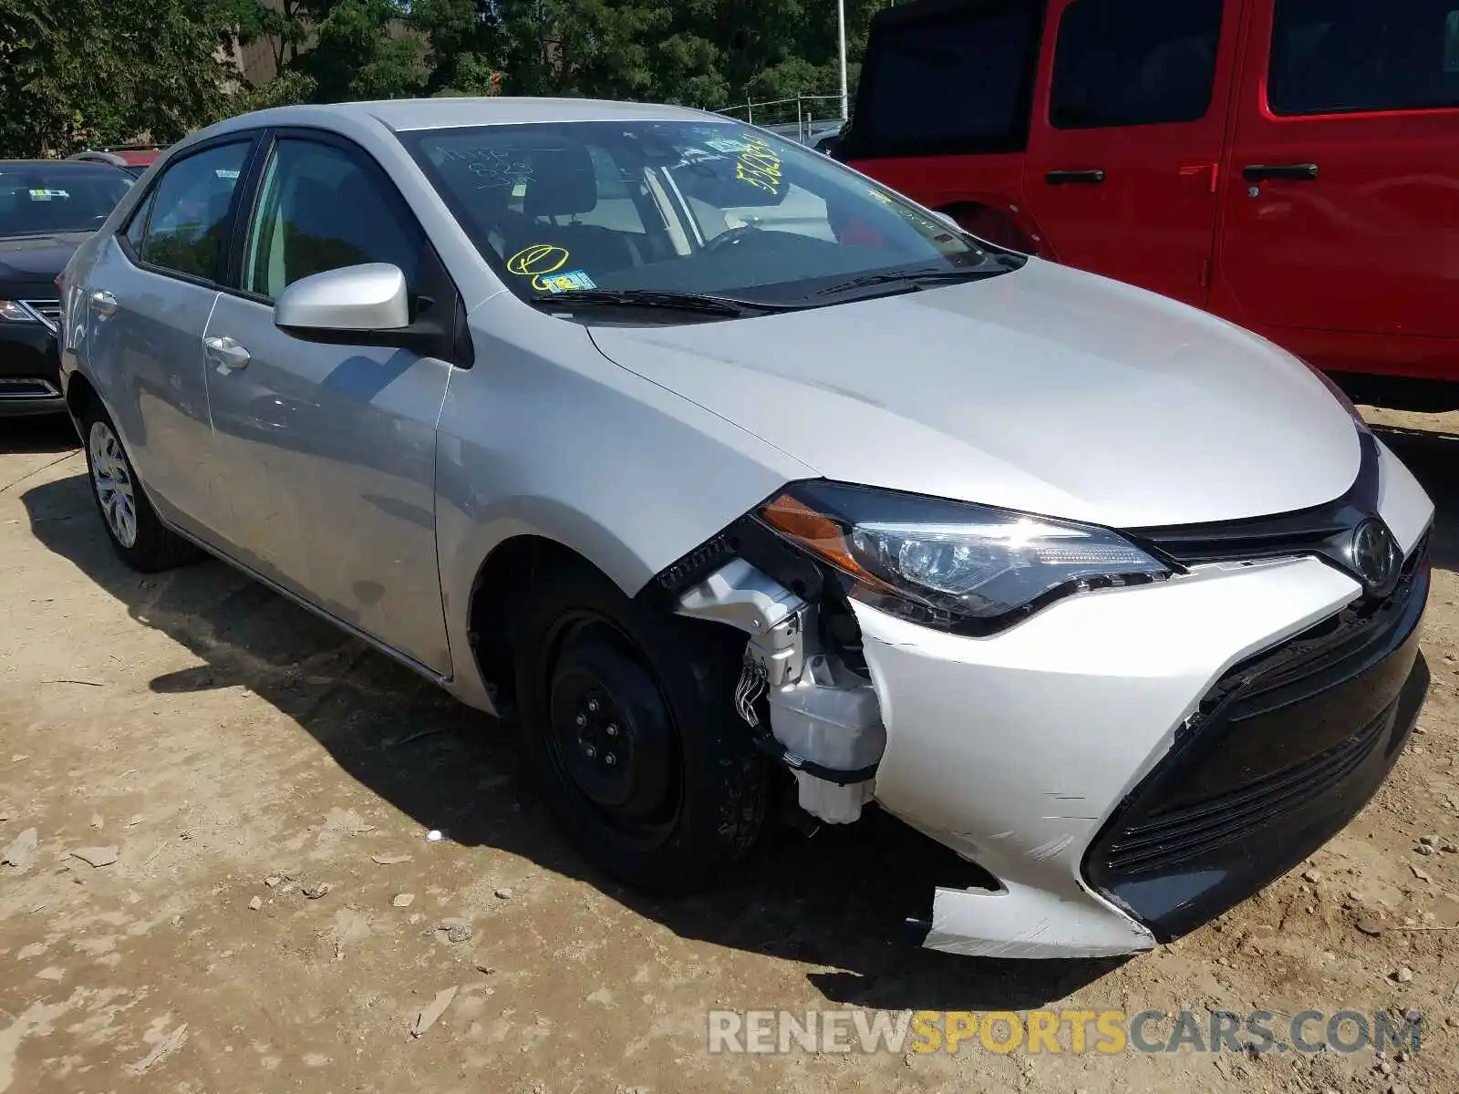
[[477, 575], [500, 544], [552, 540], [632, 597], [814, 471], [509, 293], [470, 322], [476, 363], [452, 375], [438, 426], [436, 543], [452, 690], [492, 710], [468, 630]]

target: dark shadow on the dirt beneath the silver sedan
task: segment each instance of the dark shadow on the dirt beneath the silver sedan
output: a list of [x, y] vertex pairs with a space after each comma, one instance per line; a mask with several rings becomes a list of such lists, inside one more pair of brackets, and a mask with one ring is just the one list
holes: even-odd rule
[[913, 948], [909, 915], [935, 885], [973, 884], [950, 852], [886, 815], [807, 839], [778, 827], [711, 896], [654, 900], [591, 868], [518, 777], [514, 731], [219, 562], [143, 578], [95, 518], [85, 476], [22, 494], [35, 537], [134, 620], [203, 662], [159, 693], [247, 687], [298, 722], [350, 776], [423, 829], [582, 878], [683, 938], [829, 966], [807, 979], [836, 1004], [887, 1009], [1024, 1009], [1061, 999], [1121, 960], [995, 961]]

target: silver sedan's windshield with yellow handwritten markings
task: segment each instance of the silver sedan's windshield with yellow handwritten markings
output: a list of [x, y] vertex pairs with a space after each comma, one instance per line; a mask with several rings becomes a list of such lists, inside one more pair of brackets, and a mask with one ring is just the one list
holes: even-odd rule
[[903, 271], [956, 280], [1021, 261], [732, 121], [481, 125], [401, 140], [527, 299], [607, 290], [818, 306], [906, 290]]

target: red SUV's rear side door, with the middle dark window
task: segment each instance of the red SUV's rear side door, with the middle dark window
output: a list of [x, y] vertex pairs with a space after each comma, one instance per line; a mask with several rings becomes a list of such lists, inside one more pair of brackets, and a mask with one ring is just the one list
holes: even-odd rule
[[1239, 0], [1052, 0], [1024, 197], [1053, 257], [1204, 306]]

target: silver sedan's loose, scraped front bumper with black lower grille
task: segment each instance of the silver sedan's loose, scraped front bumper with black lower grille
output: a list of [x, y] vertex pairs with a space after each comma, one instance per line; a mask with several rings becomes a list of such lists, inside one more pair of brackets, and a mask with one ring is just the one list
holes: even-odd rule
[[[1315, 636], [1360, 588], [1316, 559], [1078, 597], [986, 640], [858, 605], [887, 725], [877, 801], [998, 880], [938, 890], [924, 945], [1148, 950], [1310, 855], [1418, 715], [1421, 554], [1392, 611], [1341, 649]], [[1268, 665], [1284, 691], [1263, 690]], [[1249, 703], [1245, 725], [1218, 696]]]

